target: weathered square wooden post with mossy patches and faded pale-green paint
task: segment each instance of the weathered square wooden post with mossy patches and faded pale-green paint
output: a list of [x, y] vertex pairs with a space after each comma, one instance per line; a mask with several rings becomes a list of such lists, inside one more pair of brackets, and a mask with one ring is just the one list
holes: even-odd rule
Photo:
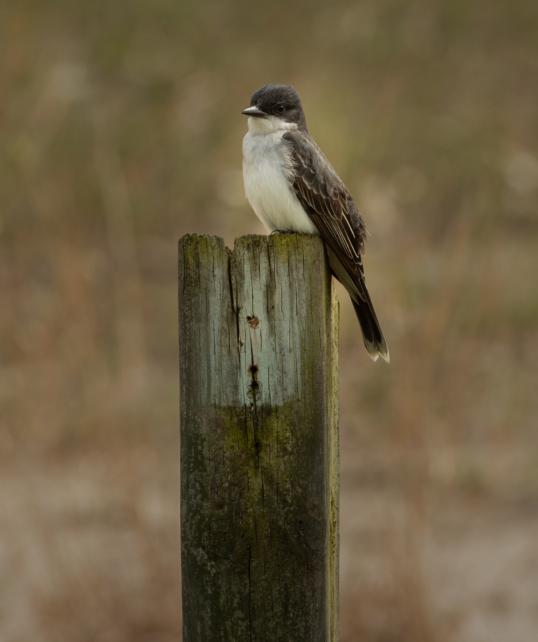
[[179, 241], [184, 642], [338, 640], [338, 302], [320, 238]]

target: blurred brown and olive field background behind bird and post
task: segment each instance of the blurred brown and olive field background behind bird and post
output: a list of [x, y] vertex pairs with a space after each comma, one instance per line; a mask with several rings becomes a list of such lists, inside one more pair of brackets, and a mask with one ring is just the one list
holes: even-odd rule
[[535, 0], [0, 4], [0, 639], [180, 640], [177, 239], [263, 233], [292, 83], [371, 232], [341, 309], [342, 642], [538, 630]]

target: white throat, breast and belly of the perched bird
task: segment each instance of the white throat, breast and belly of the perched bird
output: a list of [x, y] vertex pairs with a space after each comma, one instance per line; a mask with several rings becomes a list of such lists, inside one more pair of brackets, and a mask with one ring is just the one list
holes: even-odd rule
[[293, 162], [282, 134], [294, 126], [280, 119], [248, 119], [248, 133], [243, 139], [245, 193], [268, 232], [317, 234], [290, 183]]

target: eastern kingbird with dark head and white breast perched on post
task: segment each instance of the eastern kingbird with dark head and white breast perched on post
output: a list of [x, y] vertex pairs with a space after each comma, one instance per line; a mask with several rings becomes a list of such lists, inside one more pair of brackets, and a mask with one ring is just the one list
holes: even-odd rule
[[361, 255], [366, 226], [331, 163], [306, 128], [291, 85], [265, 85], [252, 94], [243, 139], [243, 178], [252, 209], [268, 232], [320, 234], [334, 277], [351, 296], [364, 345], [374, 361], [389, 361], [370, 300]]

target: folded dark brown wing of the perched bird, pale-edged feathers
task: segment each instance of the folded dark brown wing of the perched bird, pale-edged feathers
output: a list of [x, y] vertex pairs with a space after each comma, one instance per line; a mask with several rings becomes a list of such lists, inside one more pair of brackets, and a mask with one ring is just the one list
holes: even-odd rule
[[294, 162], [291, 180], [300, 203], [367, 301], [361, 257], [367, 230], [351, 194], [308, 134], [286, 132], [282, 139]]

